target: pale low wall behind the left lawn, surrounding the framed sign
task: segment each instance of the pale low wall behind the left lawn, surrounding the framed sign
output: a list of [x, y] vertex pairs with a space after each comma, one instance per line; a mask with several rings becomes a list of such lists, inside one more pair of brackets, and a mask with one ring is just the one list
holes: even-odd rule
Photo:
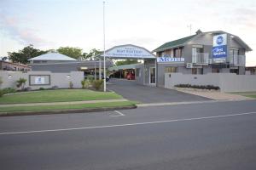
[[[29, 75], [50, 75], [50, 84], [29, 86]], [[69, 82], [73, 82], [73, 88], [81, 88], [84, 72], [71, 71], [67, 73], [52, 73], [50, 71], [28, 71], [27, 73], [23, 73], [21, 71], [0, 71], [0, 77], [2, 77], [3, 80], [1, 88], [16, 88], [16, 81], [20, 78], [25, 78], [25, 87], [30, 87], [32, 89], [52, 88], [53, 86], [69, 88]]]

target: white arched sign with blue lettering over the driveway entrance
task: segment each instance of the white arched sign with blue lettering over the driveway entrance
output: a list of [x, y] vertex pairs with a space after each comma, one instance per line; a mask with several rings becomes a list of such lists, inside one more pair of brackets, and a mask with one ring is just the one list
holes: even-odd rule
[[[156, 59], [156, 56], [148, 49], [132, 44], [110, 48], [106, 50], [105, 56], [108, 59]], [[103, 53], [99, 57], [103, 58]]]

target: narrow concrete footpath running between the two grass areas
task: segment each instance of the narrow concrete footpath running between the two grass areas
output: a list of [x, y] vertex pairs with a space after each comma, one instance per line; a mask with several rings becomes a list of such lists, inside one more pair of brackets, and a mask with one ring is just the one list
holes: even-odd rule
[[96, 104], [107, 102], [127, 101], [127, 99], [102, 99], [102, 100], [89, 100], [89, 101], [67, 101], [67, 102], [51, 102], [51, 103], [30, 103], [30, 104], [4, 104], [1, 107], [15, 107], [15, 106], [36, 106], [36, 105], [79, 105], [79, 104]]

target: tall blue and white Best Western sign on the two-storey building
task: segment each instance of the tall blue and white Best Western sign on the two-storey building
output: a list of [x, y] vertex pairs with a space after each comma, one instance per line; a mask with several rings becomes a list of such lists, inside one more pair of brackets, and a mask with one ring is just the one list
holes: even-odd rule
[[213, 37], [212, 59], [216, 63], [225, 62], [227, 58], [227, 34]]

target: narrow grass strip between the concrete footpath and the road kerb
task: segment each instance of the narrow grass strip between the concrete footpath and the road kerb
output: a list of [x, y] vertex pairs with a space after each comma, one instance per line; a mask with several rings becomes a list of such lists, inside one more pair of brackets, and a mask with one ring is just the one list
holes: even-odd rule
[[[108, 103], [94, 103], [94, 104], [79, 104], [79, 105], [39, 105], [39, 106], [15, 106], [15, 107], [1, 107], [1, 112], [19, 112], [19, 111], [53, 111], [53, 110], [71, 110], [71, 109], [87, 109], [87, 108], [106, 108], [118, 106], [132, 106], [135, 102], [120, 101]], [[11, 114], [11, 113], [10, 113]]]

